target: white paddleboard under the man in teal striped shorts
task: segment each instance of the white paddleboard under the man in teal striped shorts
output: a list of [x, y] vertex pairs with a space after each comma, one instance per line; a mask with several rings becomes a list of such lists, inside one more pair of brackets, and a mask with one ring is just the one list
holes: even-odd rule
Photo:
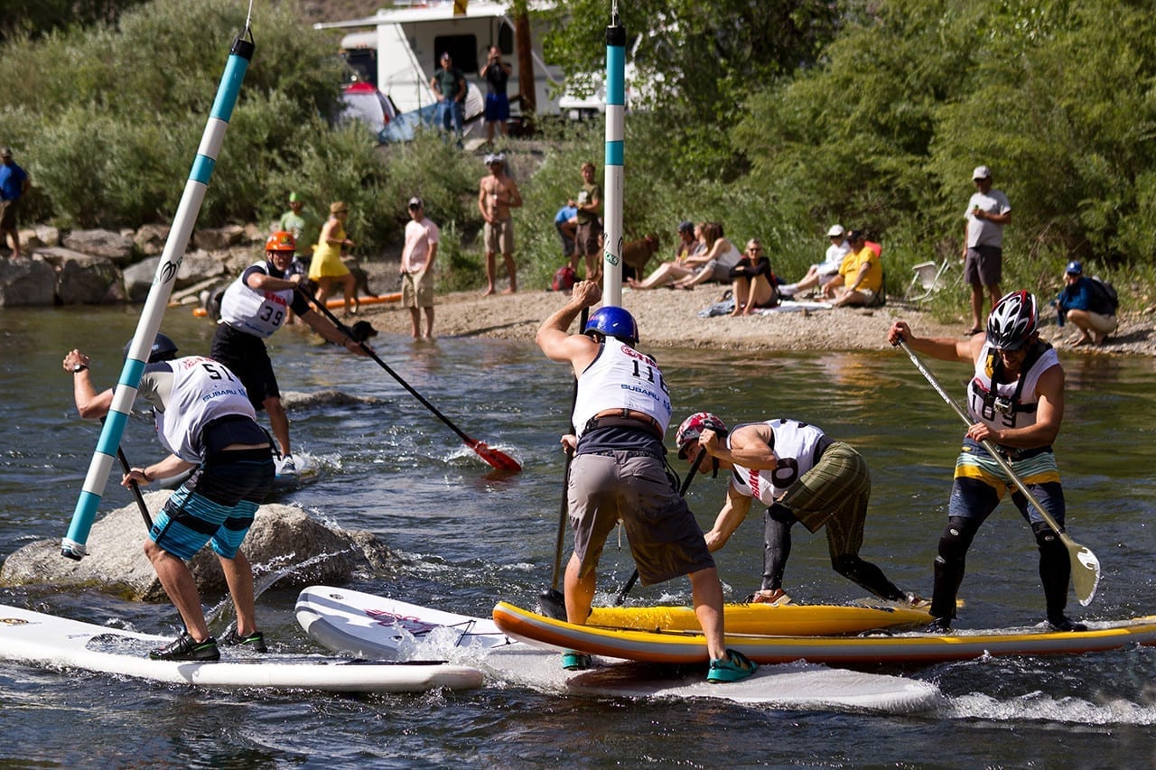
[[149, 660], [166, 637], [105, 628], [0, 605], [0, 659], [49, 668], [214, 689], [273, 688], [409, 693], [481, 687], [482, 673], [443, 662], [363, 662], [324, 656], [260, 654], [222, 647], [217, 662]]

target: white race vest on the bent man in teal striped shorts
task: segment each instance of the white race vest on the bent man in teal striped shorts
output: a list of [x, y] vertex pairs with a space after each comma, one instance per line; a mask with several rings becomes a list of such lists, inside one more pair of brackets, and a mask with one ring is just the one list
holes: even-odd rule
[[164, 447], [186, 462], [202, 459], [201, 431], [217, 417], [257, 420], [245, 386], [213, 358], [187, 356], [149, 364], [138, 393], [156, 410], [156, 432]]

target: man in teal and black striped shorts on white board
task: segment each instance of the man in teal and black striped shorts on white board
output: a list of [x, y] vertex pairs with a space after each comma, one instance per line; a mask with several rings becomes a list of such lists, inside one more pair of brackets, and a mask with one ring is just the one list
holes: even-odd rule
[[[87, 355], [72, 350], [65, 356], [64, 368], [73, 376], [80, 416], [97, 419], [109, 413], [113, 391], [96, 392], [90, 363]], [[173, 642], [148, 657], [197, 661], [221, 658], [186, 564], [208, 542], [221, 561], [237, 609], [237, 628], [221, 643], [265, 652], [265, 635], [257, 630], [253, 572], [239, 548], [258, 506], [273, 487], [269, 436], [257, 424], [257, 413], [236, 375], [212, 358], [178, 358], [177, 346], [164, 334], [156, 335], [138, 394], [153, 405], [157, 437], [172, 454], [132, 468], [121, 484], [147, 484], [197, 468], [165, 502], [144, 541], [144, 554], [185, 623]]]

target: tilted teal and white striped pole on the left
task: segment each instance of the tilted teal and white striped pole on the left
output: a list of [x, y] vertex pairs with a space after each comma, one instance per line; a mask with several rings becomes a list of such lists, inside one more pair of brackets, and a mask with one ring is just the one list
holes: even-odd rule
[[[246, 36], [249, 39], [244, 39]], [[252, 34], [246, 24], [242, 37], [234, 40], [232, 49], [229, 51], [229, 61], [217, 87], [213, 112], [209, 116], [208, 125], [205, 126], [200, 147], [197, 148], [197, 158], [193, 161], [185, 192], [177, 206], [177, 214], [173, 217], [169, 238], [164, 244], [164, 252], [161, 254], [161, 264], [156, 266], [153, 287], [149, 289], [144, 310], [141, 311], [140, 323], [136, 325], [136, 332], [128, 347], [128, 357], [125, 358], [125, 365], [120, 370], [120, 379], [117, 382], [117, 390], [112, 395], [109, 416], [101, 430], [101, 438], [97, 442], [96, 452], [92, 454], [92, 461], [88, 466], [88, 475], [84, 476], [84, 486], [76, 501], [68, 534], [60, 543], [60, 554], [68, 558], [80, 561], [88, 554], [86, 545], [92, 520], [96, 518], [96, 509], [101, 504], [109, 472], [117, 457], [117, 447], [120, 446], [120, 438], [125, 432], [125, 423], [129, 412], [132, 412], [133, 401], [136, 399], [136, 387], [144, 372], [149, 349], [161, 328], [161, 320], [169, 305], [169, 297], [172, 295], [172, 284], [177, 277], [177, 271], [180, 269], [185, 246], [188, 244], [193, 225], [197, 223], [197, 215], [205, 200], [205, 190], [208, 187], [209, 177], [213, 176], [217, 154], [224, 141], [224, 132], [229, 127], [229, 118], [232, 117], [232, 110], [237, 105], [240, 82], [245, 77], [245, 71], [249, 69], [254, 49]]]

